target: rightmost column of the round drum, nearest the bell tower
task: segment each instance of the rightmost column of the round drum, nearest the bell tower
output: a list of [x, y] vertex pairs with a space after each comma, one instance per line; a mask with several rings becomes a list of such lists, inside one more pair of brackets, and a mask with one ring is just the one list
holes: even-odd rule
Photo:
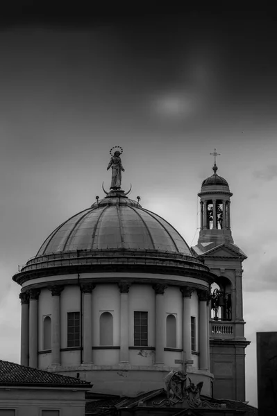
[[199, 297], [199, 370], [208, 370], [208, 291], [198, 291]]

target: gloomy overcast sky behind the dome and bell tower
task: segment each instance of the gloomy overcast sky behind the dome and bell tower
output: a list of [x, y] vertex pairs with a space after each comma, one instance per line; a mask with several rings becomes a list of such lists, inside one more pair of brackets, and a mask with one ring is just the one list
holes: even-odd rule
[[233, 192], [244, 261], [246, 400], [257, 405], [256, 331], [276, 331], [276, 23], [191, 16], [0, 31], [0, 357], [19, 362], [17, 265], [110, 186], [195, 245], [197, 193], [212, 174]]

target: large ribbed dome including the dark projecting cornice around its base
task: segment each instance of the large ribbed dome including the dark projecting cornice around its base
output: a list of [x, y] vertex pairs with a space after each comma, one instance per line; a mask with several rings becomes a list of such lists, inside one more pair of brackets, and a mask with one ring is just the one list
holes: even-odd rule
[[18, 284], [50, 275], [142, 272], [208, 277], [209, 269], [164, 218], [110, 192], [57, 227], [12, 277]]

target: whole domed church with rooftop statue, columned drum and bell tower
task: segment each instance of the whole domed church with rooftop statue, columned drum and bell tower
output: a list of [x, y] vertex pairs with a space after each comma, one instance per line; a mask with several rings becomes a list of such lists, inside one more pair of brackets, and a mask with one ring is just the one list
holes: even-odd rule
[[65, 220], [13, 277], [22, 287], [22, 365], [128, 397], [162, 388], [173, 371], [206, 397], [244, 401], [246, 256], [231, 236], [227, 182], [216, 166], [203, 181], [190, 248], [121, 190], [116, 153], [106, 197]]

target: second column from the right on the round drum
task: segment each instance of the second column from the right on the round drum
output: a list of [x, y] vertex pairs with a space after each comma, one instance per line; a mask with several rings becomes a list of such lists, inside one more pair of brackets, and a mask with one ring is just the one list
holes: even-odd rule
[[192, 359], [192, 322], [191, 304], [192, 288], [180, 288], [183, 295], [183, 356], [184, 360]]

